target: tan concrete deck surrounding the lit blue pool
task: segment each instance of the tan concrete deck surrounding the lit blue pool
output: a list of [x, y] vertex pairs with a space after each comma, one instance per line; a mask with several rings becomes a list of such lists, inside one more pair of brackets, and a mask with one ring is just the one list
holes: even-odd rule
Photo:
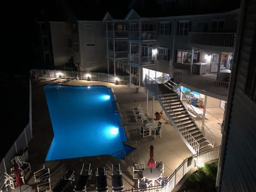
[[[116, 95], [116, 102], [119, 105], [119, 113], [121, 114], [122, 123], [126, 132], [127, 140], [130, 141], [130, 145], [135, 147], [135, 141], [138, 143], [137, 149], [134, 149], [131, 154], [126, 158], [118, 159], [110, 155], [92, 156], [83, 158], [63, 159], [59, 161], [47, 161], [44, 159], [47, 155], [47, 151], [51, 145], [53, 138], [51, 119], [49, 111], [47, 109], [46, 99], [44, 96], [43, 87], [46, 83], [33, 83], [32, 84], [32, 106], [33, 106], [33, 138], [29, 143], [29, 163], [31, 165], [31, 174], [26, 180], [26, 184], [33, 186], [36, 190], [36, 184], [33, 177], [33, 172], [41, 169], [43, 164], [50, 168], [51, 172], [51, 186], [56, 185], [59, 179], [65, 174], [67, 170], [75, 171], [75, 179], [78, 177], [82, 168], [82, 163], [91, 163], [92, 178], [87, 186], [87, 191], [96, 191], [95, 171], [97, 167], [105, 166], [108, 173], [108, 187], [111, 191], [111, 166], [112, 164], [120, 163], [123, 173], [123, 185], [124, 189], [137, 188], [138, 180], [133, 179], [133, 161], [139, 164], [144, 164], [147, 167], [149, 160], [149, 147], [154, 146], [154, 159], [158, 162], [164, 163], [164, 176], [171, 175], [175, 168], [177, 168], [183, 161], [192, 153], [188, 147], [183, 143], [177, 131], [174, 127], [168, 124], [164, 119], [163, 133], [161, 138], [154, 139], [153, 137], [142, 138], [139, 134], [139, 127], [141, 123], [134, 122], [132, 114], [133, 106], [138, 106], [141, 103], [142, 110], [146, 110], [146, 93], [138, 93], [133, 89], [129, 89], [127, 85], [116, 85], [107, 82], [95, 82], [95, 81], [68, 81], [67, 85], [106, 85], [113, 88]], [[215, 145], [220, 145], [221, 133], [220, 125], [222, 122], [223, 111], [218, 108], [216, 111], [207, 111], [209, 121], [205, 121], [208, 127], [212, 127], [212, 132], [217, 137]], [[152, 111], [152, 98], [149, 94], [148, 99], [148, 112]], [[155, 99], [154, 111], [161, 111], [159, 102]], [[222, 113], [222, 115], [221, 115]], [[151, 116], [150, 116], [151, 117]], [[90, 148], [90, 145], [84, 146], [84, 150]], [[65, 191], [72, 191], [74, 184], [68, 186]]]

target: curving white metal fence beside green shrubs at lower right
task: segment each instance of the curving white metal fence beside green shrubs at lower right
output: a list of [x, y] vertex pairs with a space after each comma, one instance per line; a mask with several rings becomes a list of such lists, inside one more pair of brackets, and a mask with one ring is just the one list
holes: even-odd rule
[[[214, 147], [209, 150], [202, 151], [201, 153], [195, 154], [186, 158], [168, 177], [162, 186], [148, 187], [145, 191], [159, 191], [159, 192], [170, 192], [172, 191], [179, 181], [195, 167], [202, 167], [204, 163], [217, 161], [220, 157], [220, 146]], [[125, 189], [124, 192], [140, 191], [139, 188]]]

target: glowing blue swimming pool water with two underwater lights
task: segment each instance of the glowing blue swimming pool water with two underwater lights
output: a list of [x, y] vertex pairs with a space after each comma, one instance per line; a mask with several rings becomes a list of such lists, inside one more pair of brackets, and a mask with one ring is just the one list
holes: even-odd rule
[[45, 161], [132, 150], [123, 145], [126, 135], [110, 88], [50, 85], [44, 92], [54, 133]]

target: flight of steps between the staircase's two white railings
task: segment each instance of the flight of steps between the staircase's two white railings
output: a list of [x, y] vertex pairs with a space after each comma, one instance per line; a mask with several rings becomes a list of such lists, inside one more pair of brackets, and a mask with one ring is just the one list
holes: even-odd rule
[[[158, 95], [158, 98], [160, 99], [158, 100], [160, 101], [166, 116], [169, 116], [171, 124], [179, 131], [182, 137], [187, 140], [188, 143], [192, 138], [196, 141], [195, 143], [198, 143], [199, 147], [195, 146], [195, 153], [206, 146], [212, 146], [196, 125], [194, 119], [189, 115], [177, 93], [170, 90], [170, 93]], [[191, 147], [193, 148], [193, 145]]]

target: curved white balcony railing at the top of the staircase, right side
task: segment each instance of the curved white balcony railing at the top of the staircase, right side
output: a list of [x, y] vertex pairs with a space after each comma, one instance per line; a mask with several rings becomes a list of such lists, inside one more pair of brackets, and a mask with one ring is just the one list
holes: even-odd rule
[[195, 89], [219, 95], [223, 98], [228, 97], [229, 82], [216, 81], [199, 75], [182, 72], [174, 77], [173, 82], [176, 84], [186, 84]]

